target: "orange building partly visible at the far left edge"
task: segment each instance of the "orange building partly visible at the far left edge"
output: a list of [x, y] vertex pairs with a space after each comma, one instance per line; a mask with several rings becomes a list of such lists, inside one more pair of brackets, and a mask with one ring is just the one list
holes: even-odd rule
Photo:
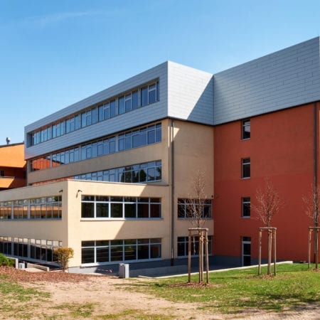
[[26, 186], [24, 144], [0, 146], [0, 191]]

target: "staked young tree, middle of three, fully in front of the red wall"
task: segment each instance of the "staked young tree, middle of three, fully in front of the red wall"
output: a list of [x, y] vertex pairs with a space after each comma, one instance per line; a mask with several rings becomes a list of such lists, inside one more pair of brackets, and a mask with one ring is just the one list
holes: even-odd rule
[[267, 230], [267, 242], [268, 242], [268, 268], [267, 274], [271, 274], [271, 255], [272, 255], [272, 236], [274, 240], [274, 274], [276, 274], [276, 228], [272, 228], [272, 218], [279, 210], [284, 206], [284, 203], [279, 196], [276, 188], [272, 185], [270, 178], [265, 181], [265, 188], [263, 190], [257, 189], [255, 195], [257, 204], [252, 204], [251, 207], [257, 213], [257, 219], [261, 220], [265, 225], [264, 228], [260, 228], [259, 232], [259, 274], [261, 272], [261, 242], [262, 231]]

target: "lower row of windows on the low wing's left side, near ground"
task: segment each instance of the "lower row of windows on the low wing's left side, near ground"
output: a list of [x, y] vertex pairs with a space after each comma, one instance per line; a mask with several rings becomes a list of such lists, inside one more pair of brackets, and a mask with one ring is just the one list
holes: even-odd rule
[[0, 237], [0, 252], [32, 260], [53, 262], [53, 252], [62, 246], [58, 240]]

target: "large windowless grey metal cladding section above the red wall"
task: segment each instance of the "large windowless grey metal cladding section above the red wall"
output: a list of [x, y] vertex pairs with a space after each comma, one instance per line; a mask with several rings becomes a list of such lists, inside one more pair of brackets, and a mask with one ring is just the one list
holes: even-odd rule
[[214, 124], [320, 100], [319, 39], [215, 74]]

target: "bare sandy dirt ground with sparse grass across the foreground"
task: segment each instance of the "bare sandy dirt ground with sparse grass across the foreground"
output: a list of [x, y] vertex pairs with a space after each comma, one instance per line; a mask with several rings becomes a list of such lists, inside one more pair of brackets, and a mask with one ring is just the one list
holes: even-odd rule
[[[0, 267], [0, 282], [1, 277], [12, 279], [26, 289], [49, 293], [46, 297], [35, 295], [31, 300], [14, 302], [16, 309], [2, 304], [1, 319], [320, 319], [320, 306], [282, 314], [244, 310], [238, 315], [223, 315], [198, 309], [199, 304], [174, 303], [127, 290], [152, 279], [119, 279], [66, 272], [32, 273]], [[214, 289], [213, 284], [209, 285]], [[3, 292], [0, 292], [0, 299], [11, 301]]]

